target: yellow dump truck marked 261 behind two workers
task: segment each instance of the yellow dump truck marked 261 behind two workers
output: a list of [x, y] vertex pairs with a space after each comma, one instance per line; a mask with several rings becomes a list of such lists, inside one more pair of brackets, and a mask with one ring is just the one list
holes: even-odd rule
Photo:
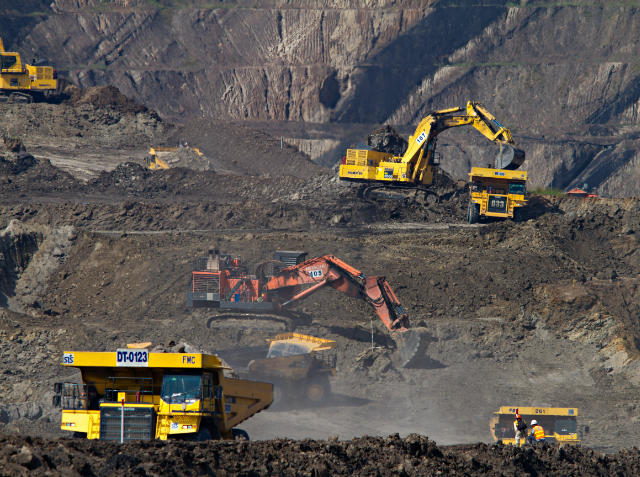
[[[493, 439], [502, 441], [504, 444], [515, 444], [516, 433], [513, 423], [516, 420], [516, 413], [529, 426], [531, 431], [531, 421], [535, 419], [542, 426], [545, 434], [545, 442], [578, 444], [581, 442], [578, 432], [578, 409], [575, 407], [512, 407], [503, 406], [489, 422], [489, 428]], [[585, 429], [585, 432], [587, 430]]]

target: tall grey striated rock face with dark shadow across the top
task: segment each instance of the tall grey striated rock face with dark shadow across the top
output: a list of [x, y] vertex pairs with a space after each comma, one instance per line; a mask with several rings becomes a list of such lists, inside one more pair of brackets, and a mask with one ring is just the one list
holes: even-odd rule
[[[304, 143], [331, 166], [353, 142], [355, 124], [406, 126], [406, 136], [429, 111], [475, 100], [515, 133], [532, 185], [640, 193], [640, 16], [631, 6], [9, 3], [5, 13], [43, 12], [20, 20], [22, 30], [0, 14], [10, 49], [51, 58], [77, 85], [115, 85], [171, 121], [305, 121], [319, 130], [340, 123], [342, 140]], [[475, 131], [464, 134], [446, 132], [441, 142], [443, 168], [459, 179], [495, 154]]]

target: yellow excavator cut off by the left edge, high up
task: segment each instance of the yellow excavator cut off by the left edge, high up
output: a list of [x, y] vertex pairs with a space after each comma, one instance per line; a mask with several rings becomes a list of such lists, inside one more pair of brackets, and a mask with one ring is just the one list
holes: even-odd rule
[[19, 53], [8, 52], [0, 38], [0, 102], [31, 103], [58, 90], [58, 72], [45, 66], [46, 60], [22, 61]]

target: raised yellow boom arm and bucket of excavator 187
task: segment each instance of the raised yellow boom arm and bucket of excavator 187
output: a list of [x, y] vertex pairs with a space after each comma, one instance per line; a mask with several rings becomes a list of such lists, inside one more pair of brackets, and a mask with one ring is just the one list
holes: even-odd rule
[[463, 111], [463, 108], [449, 108], [429, 113], [416, 128], [416, 132], [409, 138], [409, 147], [402, 157], [401, 162], [415, 164], [412, 172], [414, 180], [421, 174], [431, 162], [435, 139], [442, 131], [447, 129], [471, 125], [492, 142], [499, 144], [500, 150], [495, 160], [497, 169], [515, 170], [525, 160], [523, 150], [515, 147], [511, 131], [500, 122], [480, 103], [469, 101], [466, 115], [456, 116], [454, 113]]

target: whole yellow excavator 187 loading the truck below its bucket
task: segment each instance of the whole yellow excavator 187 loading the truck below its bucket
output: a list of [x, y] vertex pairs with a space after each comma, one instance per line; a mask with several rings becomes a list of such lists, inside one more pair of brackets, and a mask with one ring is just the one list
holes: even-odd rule
[[[511, 131], [505, 128], [480, 103], [469, 101], [466, 114], [456, 114], [463, 108], [432, 111], [409, 136], [409, 145], [402, 157], [375, 150], [348, 149], [340, 165], [340, 179], [378, 183], [379, 187], [427, 188], [433, 183], [436, 138], [447, 129], [471, 125], [490, 141], [500, 146], [495, 159], [496, 169], [515, 170], [525, 160], [525, 153], [515, 147]], [[369, 148], [371, 149], [371, 148]]]

